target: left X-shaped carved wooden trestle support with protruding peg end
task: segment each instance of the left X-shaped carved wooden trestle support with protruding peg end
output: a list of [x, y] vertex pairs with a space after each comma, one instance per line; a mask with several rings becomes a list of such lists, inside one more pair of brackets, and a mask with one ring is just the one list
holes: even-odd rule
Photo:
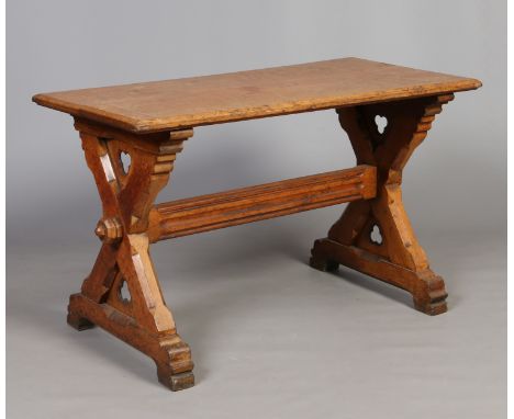
[[[150, 356], [170, 389], [191, 387], [191, 351], [163, 298], [147, 229], [154, 200], [192, 131], [142, 138], [83, 122], [76, 127], [102, 201], [96, 229], [102, 248], [81, 292], [70, 296], [68, 324], [78, 330], [102, 327]], [[123, 166], [123, 154], [130, 167]]]

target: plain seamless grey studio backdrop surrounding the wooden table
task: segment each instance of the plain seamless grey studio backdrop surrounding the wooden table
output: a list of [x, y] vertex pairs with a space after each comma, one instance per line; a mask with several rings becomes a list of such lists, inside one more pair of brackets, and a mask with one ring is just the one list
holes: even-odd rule
[[[483, 418], [506, 411], [506, 1], [8, 1], [8, 417]], [[34, 93], [358, 56], [481, 79], [404, 172], [449, 312], [306, 265], [343, 206], [163, 242], [197, 386], [66, 326], [99, 242], [72, 121]], [[333, 111], [201, 127], [160, 201], [354, 166]]]

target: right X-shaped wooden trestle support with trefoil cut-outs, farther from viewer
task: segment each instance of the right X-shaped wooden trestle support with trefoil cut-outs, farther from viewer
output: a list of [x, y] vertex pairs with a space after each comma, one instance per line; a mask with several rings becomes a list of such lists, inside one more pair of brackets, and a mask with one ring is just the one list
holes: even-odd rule
[[412, 152], [452, 99], [446, 94], [337, 110], [358, 165], [377, 167], [377, 196], [348, 204], [328, 236], [314, 242], [313, 268], [333, 271], [343, 264], [406, 290], [421, 312], [446, 312], [445, 283], [417, 242], [401, 183]]

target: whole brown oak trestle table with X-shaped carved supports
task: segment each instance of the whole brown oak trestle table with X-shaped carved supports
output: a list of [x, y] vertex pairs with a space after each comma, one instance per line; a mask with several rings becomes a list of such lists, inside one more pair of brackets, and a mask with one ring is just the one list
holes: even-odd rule
[[[402, 203], [402, 170], [454, 92], [476, 79], [358, 58], [98, 89], [36, 94], [69, 113], [103, 214], [102, 240], [68, 322], [98, 325], [150, 356], [159, 381], [194, 384], [191, 351], [177, 333], [149, 256], [158, 240], [349, 202], [311, 265], [339, 264], [410, 292], [414, 307], [446, 312], [446, 290], [428, 267]], [[193, 127], [335, 109], [357, 166], [212, 195], [154, 204]], [[130, 157], [130, 166], [122, 157]]]

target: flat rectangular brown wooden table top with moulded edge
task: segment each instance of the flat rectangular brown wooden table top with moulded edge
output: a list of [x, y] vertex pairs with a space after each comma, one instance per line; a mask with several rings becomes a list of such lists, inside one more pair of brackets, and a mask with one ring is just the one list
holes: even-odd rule
[[134, 133], [477, 89], [476, 79], [360, 58], [36, 94], [40, 105]]

